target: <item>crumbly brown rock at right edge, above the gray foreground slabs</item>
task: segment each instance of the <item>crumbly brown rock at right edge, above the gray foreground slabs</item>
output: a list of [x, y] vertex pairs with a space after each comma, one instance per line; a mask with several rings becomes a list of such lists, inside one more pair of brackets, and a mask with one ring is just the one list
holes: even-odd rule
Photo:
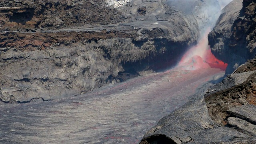
[[[236, 85], [224, 90], [216, 91], [214, 94], [206, 96], [208, 102], [209, 114], [218, 124], [226, 124], [226, 118], [229, 115], [227, 110], [234, 106], [245, 104], [255, 104], [255, 76], [256, 72], [244, 72], [232, 74], [237, 81]], [[244, 76], [249, 76], [248, 78]], [[240, 80], [239, 80], [240, 79]], [[245, 81], [247, 80], [247, 81]]]

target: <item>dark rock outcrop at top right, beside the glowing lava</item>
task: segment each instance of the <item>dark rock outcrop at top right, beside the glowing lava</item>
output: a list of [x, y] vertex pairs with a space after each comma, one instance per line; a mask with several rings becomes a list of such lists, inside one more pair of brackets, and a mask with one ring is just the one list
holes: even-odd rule
[[254, 0], [234, 0], [226, 6], [208, 35], [212, 53], [228, 63], [227, 74], [256, 54]]

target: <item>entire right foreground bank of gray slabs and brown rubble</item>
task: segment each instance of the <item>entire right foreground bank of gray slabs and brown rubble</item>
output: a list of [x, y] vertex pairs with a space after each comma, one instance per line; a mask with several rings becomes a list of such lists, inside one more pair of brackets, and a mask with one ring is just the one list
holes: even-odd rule
[[[256, 64], [256, 58], [244, 66], [252, 62]], [[243, 71], [234, 72], [162, 118], [140, 144], [254, 144], [256, 71]]]

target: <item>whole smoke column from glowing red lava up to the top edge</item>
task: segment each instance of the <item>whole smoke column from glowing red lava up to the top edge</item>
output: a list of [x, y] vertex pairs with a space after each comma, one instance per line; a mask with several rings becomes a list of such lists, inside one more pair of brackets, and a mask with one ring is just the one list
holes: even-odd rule
[[[193, 14], [200, 30], [198, 44], [191, 47], [181, 58], [178, 66], [186, 70], [199, 68], [219, 68], [226, 70], [227, 64], [215, 58], [208, 46], [207, 35], [214, 28], [221, 9], [232, 0], [170, 0], [169, 4], [176, 9]], [[177, 6], [178, 2], [180, 5]], [[186, 3], [186, 4], [185, 4]], [[186, 5], [186, 6], [185, 6]], [[190, 6], [191, 8], [188, 8]], [[188, 13], [189, 14], [189, 13]]]

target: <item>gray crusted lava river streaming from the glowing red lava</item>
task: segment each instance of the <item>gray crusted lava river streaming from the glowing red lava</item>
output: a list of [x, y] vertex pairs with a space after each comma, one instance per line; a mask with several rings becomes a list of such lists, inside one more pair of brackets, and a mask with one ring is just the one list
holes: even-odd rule
[[190, 99], [218, 69], [169, 70], [94, 92], [0, 106], [0, 143], [138, 144], [145, 132]]

